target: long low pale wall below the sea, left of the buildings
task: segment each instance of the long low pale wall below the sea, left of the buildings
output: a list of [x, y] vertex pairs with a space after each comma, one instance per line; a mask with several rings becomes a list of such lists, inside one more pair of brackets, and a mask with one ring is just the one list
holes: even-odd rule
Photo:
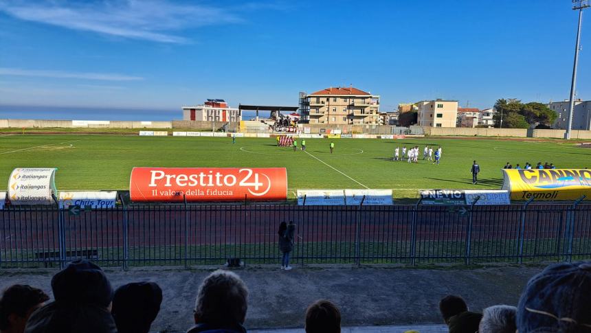
[[172, 122], [119, 122], [74, 126], [71, 120], [0, 119], [0, 127], [12, 128], [172, 128]]

